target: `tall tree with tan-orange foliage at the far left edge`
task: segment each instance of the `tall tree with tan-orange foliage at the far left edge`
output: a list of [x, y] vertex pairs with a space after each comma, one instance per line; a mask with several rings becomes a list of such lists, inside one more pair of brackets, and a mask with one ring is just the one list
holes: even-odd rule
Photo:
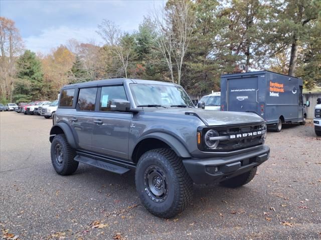
[[15, 22], [6, 17], [0, 17], [0, 68], [1, 97], [12, 101], [15, 87], [16, 56], [23, 50], [23, 40]]

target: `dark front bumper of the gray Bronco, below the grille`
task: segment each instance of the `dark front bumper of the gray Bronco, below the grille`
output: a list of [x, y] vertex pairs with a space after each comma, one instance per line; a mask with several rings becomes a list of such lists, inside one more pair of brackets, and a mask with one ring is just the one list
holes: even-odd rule
[[195, 183], [210, 184], [251, 170], [266, 161], [269, 153], [270, 148], [263, 145], [254, 151], [232, 156], [183, 159], [183, 164]]

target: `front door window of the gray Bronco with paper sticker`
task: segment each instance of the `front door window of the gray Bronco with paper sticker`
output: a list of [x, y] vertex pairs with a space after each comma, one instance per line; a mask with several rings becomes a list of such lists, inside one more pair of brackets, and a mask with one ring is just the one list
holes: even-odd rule
[[127, 100], [124, 86], [104, 86], [101, 88], [100, 111], [110, 111], [112, 99]]

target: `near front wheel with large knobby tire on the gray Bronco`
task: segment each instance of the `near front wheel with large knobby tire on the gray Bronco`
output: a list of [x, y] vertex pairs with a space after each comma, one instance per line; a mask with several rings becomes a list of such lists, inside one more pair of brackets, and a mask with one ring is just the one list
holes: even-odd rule
[[[158, 148], [142, 154], [135, 183], [142, 204], [158, 217], [174, 217], [192, 201], [193, 181], [182, 158], [172, 149]], [[157, 192], [158, 183], [161, 193]]]

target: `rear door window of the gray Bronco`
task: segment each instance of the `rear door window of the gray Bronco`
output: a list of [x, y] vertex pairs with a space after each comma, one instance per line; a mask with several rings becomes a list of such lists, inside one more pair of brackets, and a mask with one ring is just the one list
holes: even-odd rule
[[97, 87], [79, 89], [77, 109], [94, 111], [96, 102]]

